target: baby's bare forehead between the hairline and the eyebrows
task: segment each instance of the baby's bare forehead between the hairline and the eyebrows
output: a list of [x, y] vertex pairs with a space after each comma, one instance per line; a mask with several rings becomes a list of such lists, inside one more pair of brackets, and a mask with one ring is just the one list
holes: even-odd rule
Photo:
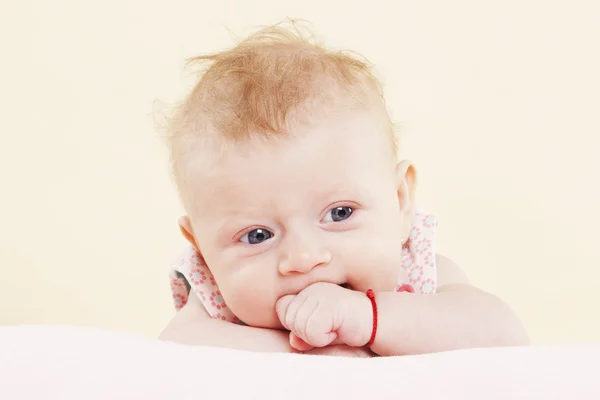
[[189, 180], [195, 207], [235, 212], [253, 204], [277, 206], [271, 201], [300, 207], [369, 192], [393, 175], [394, 153], [376, 133], [328, 135], [328, 125], [313, 128], [306, 135], [228, 148]]

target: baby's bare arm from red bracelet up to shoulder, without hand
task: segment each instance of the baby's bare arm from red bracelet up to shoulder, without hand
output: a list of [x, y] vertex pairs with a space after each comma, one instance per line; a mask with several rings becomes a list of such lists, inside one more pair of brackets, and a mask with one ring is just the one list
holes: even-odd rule
[[399, 355], [528, 344], [503, 301], [471, 286], [447, 258], [437, 257], [437, 269], [436, 294], [377, 293], [379, 326], [371, 350]]

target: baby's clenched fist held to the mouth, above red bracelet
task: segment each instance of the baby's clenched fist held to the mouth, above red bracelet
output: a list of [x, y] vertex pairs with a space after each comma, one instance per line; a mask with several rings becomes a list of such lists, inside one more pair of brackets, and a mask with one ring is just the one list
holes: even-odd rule
[[333, 283], [318, 282], [297, 295], [283, 296], [275, 309], [291, 332], [290, 345], [299, 351], [330, 344], [362, 347], [373, 328], [369, 298]]

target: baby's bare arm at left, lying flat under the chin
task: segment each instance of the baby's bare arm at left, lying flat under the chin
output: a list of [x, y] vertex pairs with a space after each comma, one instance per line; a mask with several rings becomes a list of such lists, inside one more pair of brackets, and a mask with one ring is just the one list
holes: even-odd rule
[[197, 296], [190, 295], [159, 339], [182, 344], [227, 347], [239, 350], [283, 352], [294, 350], [289, 334], [272, 329], [253, 328], [210, 318]]

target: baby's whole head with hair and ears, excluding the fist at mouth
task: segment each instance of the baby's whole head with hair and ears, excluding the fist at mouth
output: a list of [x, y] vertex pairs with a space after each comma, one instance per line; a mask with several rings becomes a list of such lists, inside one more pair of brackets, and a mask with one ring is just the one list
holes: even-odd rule
[[392, 290], [415, 176], [369, 66], [280, 27], [199, 60], [171, 127], [180, 224], [231, 311], [278, 328], [312, 283]]

